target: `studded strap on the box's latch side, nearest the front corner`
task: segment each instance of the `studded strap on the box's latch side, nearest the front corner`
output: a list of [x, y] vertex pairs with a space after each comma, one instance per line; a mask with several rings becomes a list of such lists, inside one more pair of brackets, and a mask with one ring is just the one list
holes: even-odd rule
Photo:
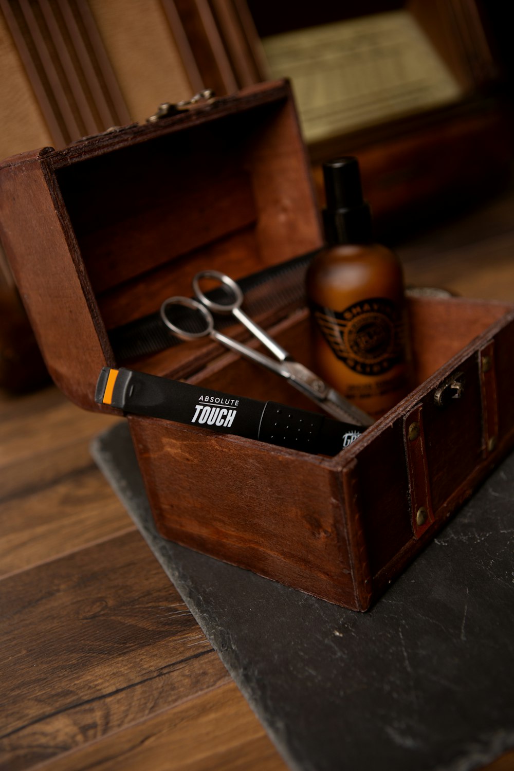
[[422, 409], [422, 404], [418, 404], [404, 418], [405, 457], [411, 496], [412, 532], [415, 538], [419, 538], [434, 521]]

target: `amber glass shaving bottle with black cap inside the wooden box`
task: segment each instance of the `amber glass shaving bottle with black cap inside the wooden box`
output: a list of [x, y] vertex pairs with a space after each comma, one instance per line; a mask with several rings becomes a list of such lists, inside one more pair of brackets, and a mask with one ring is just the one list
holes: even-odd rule
[[376, 418], [412, 387], [403, 273], [395, 254], [373, 243], [357, 159], [323, 172], [328, 245], [307, 272], [315, 369]]

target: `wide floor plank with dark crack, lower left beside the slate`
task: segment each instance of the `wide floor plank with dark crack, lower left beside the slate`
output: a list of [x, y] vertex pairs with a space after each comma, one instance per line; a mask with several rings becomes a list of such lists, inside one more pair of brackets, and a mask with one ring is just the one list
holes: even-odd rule
[[136, 533], [3, 579], [0, 618], [9, 771], [230, 682]]

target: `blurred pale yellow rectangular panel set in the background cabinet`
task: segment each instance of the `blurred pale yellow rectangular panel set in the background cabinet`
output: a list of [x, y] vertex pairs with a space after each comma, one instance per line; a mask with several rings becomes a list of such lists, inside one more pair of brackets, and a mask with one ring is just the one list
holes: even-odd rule
[[291, 77], [307, 143], [464, 96], [405, 8], [284, 32], [262, 43], [271, 76]]

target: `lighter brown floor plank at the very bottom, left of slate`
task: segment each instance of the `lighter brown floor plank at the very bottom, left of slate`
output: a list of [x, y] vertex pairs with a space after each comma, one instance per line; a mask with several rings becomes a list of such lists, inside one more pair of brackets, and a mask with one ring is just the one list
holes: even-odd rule
[[286, 771], [236, 685], [167, 709], [137, 726], [39, 766], [52, 771]]

